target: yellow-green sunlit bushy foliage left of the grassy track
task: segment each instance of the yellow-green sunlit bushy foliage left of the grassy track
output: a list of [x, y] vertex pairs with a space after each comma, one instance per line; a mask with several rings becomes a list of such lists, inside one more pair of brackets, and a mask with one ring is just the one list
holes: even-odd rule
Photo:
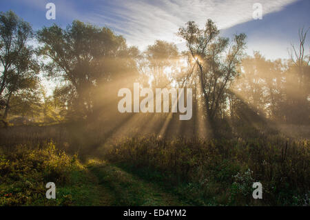
[[76, 155], [69, 156], [56, 150], [54, 143], [43, 148], [19, 145], [13, 149], [0, 149], [0, 205], [65, 205], [70, 195], [57, 194], [56, 201], [45, 198], [45, 184], [54, 182], [56, 187], [71, 183], [71, 174], [83, 171]]

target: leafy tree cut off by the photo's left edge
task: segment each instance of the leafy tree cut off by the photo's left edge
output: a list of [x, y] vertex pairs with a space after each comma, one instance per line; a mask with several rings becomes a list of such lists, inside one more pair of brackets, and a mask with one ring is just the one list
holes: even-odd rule
[[0, 13], [0, 97], [6, 100], [3, 118], [8, 116], [12, 95], [35, 88], [39, 65], [29, 46], [32, 28], [12, 11]]

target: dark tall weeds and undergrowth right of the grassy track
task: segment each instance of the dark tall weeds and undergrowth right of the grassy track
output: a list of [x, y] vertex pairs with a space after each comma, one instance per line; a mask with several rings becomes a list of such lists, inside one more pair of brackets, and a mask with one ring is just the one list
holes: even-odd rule
[[[200, 205], [296, 205], [296, 198], [304, 198], [310, 186], [307, 140], [138, 137], [116, 143], [105, 157], [178, 189]], [[251, 196], [256, 181], [264, 188], [262, 201]]]

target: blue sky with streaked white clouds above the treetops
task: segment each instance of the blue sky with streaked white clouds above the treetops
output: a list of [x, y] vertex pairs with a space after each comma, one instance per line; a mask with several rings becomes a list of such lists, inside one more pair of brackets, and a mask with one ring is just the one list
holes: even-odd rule
[[[45, 19], [46, 3], [56, 5], [56, 20]], [[262, 20], [252, 18], [253, 4], [262, 4]], [[112, 28], [130, 45], [143, 50], [156, 39], [174, 41], [185, 49], [175, 33], [187, 21], [203, 26], [216, 22], [225, 37], [245, 32], [247, 52], [259, 50], [267, 59], [288, 58], [291, 43], [298, 43], [298, 28], [310, 26], [309, 0], [6, 0], [0, 11], [13, 10], [34, 30], [74, 19]], [[309, 37], [307, 40], [309, 46]]]

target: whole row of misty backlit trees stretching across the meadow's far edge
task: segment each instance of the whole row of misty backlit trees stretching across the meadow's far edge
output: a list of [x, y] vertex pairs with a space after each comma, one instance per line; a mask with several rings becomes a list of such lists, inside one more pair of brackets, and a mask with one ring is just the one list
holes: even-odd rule
[[[256, 118], [309, 124], [307, 30], [300, 29], [291, 59], [274, 61], [260, 52], [245, 54], [246, 35], [221, 37], [210, 19], [203, 28], [189, 21], [177, 35], [187, 50], [156, 40], [140, 51], [106, 27], [73, 21], [67, 28], [54, 24], [34, 32], [14, 12], [1, 12], [3, 122], [9, 115], [43, 114], [45, 121], [96, 118], [117, 103], [119, 88], [138, 81], [151, 88], [193, 88], [193, 114], [203, 112], [195, 117], [211, 125]], [[43, 79], [58, 82], [51, 96], [41, 86]]]

